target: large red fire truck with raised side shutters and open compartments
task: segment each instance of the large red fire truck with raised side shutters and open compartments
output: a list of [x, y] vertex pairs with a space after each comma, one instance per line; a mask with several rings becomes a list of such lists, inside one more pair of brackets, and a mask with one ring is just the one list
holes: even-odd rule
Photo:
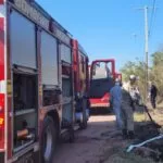
[[37, 2], [0, 0], [0, 163], [52, 163], [58, 139], [86, 128], [87, 70], [84, 49]]

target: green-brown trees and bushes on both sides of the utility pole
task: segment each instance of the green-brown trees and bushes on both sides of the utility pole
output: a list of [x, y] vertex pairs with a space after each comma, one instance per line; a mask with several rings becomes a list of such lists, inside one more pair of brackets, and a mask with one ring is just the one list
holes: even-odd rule
[[[138, 86], [142, 97], [145, 97], [146, 86], [146, 64], [142, 61], [127, 62], [121, 70], [123, 80], [128, 80], [130, 74], [139, 77]], [[152, 54], [152, 65], [149, 67], [149, 80], [155, 84], [159, 89], [159, 102], [163, 100], [163, 51], [158, 51]]]

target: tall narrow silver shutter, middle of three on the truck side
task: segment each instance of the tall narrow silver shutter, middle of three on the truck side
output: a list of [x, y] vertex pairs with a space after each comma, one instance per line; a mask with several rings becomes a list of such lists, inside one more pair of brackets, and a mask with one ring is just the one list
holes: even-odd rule
[[59, 84], [57, 39], [46, 32], [41, 33], [41, 68], [42, 85], [57, 86]]

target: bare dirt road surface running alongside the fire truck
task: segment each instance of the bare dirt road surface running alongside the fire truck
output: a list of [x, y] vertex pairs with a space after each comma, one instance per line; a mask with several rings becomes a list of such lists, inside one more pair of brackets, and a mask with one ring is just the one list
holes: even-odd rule
[[60, 145], [54, 163], [99, 163], [103, 162], [106, 140], [114, 128], [113, 115], [91, 116], [88, 128], [76, 133], [74, 143]]

